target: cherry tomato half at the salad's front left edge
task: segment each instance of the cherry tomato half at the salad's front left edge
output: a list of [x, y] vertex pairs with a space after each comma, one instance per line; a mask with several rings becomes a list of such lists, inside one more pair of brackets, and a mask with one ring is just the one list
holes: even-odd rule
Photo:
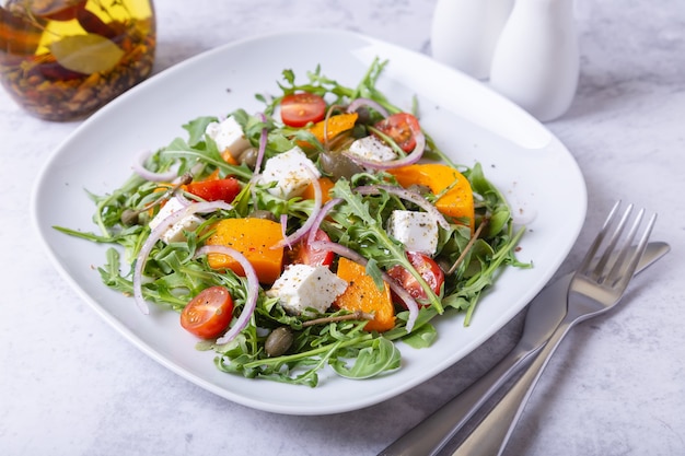
[[181, 326], [201, 339], [221, 336], [233, 319], [233, 299], [224, 287], [210, 287], [181, 313]]

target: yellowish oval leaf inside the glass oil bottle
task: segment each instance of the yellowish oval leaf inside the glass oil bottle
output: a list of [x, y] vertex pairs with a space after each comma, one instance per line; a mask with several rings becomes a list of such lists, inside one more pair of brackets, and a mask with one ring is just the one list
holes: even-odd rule
[[62, 67], [91, 74], [114, 68], [124, 50], [102, 35], [66, 36], [50, 45], [50, 51]]

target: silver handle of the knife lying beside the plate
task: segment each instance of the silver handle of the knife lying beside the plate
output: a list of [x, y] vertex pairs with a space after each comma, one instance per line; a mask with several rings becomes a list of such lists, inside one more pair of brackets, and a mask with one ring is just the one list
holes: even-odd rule
[[[542, 347], [542, 346], [541, 346]], [[460, 429], [539, 348], [516, 344], [495, 367], [433, 414], [417, 424], [379, 456], [436, 455]]]

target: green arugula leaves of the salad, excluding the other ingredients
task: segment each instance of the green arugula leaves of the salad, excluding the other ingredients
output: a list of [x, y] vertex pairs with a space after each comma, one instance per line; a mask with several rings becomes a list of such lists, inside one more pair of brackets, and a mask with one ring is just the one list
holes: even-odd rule
[[[390, 113], [399, 109], [376, 87], [386, 62], [375, 60], [356, 87], [346, 87], [322, 74], [321, 68], [307, 73], [307, 82], [295, 83], [292, 71], [283, 71], [280, 87], [283, 96], [299, 91], [309, 91], [333, 97], [332, 104], [348, 104], [351, 100], [365, 97], [381, 104]], [[246, 138], [258, 147], [262, 131], [268, 130], [265, 159], [283, 152], [304, 140], [323, 148], [305, 130], [294, 131], [274, 119], [282, 96], [267, 98], [257, 95], [265, 103], [260, 115], [248, 115], [235, 109], [232, 116], [243, 128]], [[217, 144], [205, 135], [207, 126], [217, 117], [198, 117], [185, 124], [187, 138], [175, 138], [166, 147], [151, 154], [144, 166], [155, 173], [177, 169], [178, 176], [193, 172], [196, 178], [207, 176], [217, 169], [220, 176], [234, 176], [242, 182], [243, 189], [233, 201], [233, 210], [219, 211], [208, 217], [195, 232], [185, 233], [186, 242], [164, 244], [159, 242], [146, 261], [146, 282], [142, 287], [146, 300], [172, 311], [181, 312], [186, 303], [201, 290], [212, 285], [223, 285], [231, 291], [236, 313], [242, 312], [247, 299], [246, 280], [232, 271], [211, 269], [207, 258], [197, 258], [195, 253], [212, 232], [212, 224], [224, 217], [248, 217], [254, 210], [266, 210], [275, 217], [288, 218], [290, 232], [301, 226], [313, 208], [311, 200], [292, 198], [282, 200], [268, 192], [268, 188], [253, 179], [253, 171], [245, 164], [227, 163]], [[428, 155], [442, 157], [454, 166], [427, 136]], [[408, 334], [407, 311], [396, 315], [395, 328], [384, 332], [364, 331], [365, 320], [346, 319], [346, 311], [330, 309], [321, 317], [325, 323], [311, 324], [304, 317], [290, 315], [278, 304], [277, 299], [268, 297], [260, 290], [257, 307], [248, 326], [230, 343], [217, 344], [201, 341], [199, 350], [213, 350], [219, 370], [248, 378], [266, 378], [290, 384], [316, 386], [321, 374], [335, 373], [346, 378], [362, 379], [400, 369], [400, 351], [395, 343], [402, 340], [413, 349], [431, 347], [440, 337], [431, 321], [434, 318], [450, 318], [456, 312], [466, 313], [466, 325], [472, 318], [483, 294], [495, 282], [498, 271], [504, 266], [530, 267], [521, 264], [514, 255], [514, 247], [523, 235], [523, 230], [514, 233], [509, 207], [500, 191], [485, 177], [483, 168], [460, 169], [469, 180], [477, 200], [476, 224], [485, 230], [478, 238], [472, 238], [471, 229], [452, 224], [450, 230], [441, 230], [439, 256], [441, 261], [454, 265], [453, 273], [445, 276], [441, 295], [437, 295], [416, 272], [404, 250], [404, 246], [387, 234], [386, 220], [394, 210], [406, 210], [410, 202], [380, 191], [378, 195], [359, 195], [355, 187], [360, 185], [396, 184], [386, 173], [360, 173], [351, 180], [339, 179], [332, 196], [342, 202], [336, 206], [322, 223], [332, 241], [361, 254], [367, 260], [367, 272], [374, 282], [383, 287], [383, 271], [396, 265], [413, 271], [426, 292], [428, 300], [421, 306], [414, 330]], [[149, 221], [159, 211], [155, 204], [167, 197], [170, 184], [147, 182], [140, 176], [131, 176], [112, 194], [89, 195], [95, 204], [93, 222], [100, 233], [83, 233], [67, 227], [60, 232], [89, 242], [113, 245], [106, 252], [104, 265], [98, 268], [102, 281], [107, 287], [127, 295], [132, 293], [132, 270], [142, 244], [150, 234]], [[135, 223], [125, 222], [126, 212], [135, 211]], [[441, 316], [445, 314], [444, 316]], [[237, 315], [235, 315], [237, 316]], [[349, 316], [349, 315], [347, 315]], [[142, 318], [142, 316], [141, 316]], [[278, 327], [287, 327], [293, 332], [292, 344], [282, 355], [269, 356], [265, 352], [268, 334]], [[324, 369], [329, 366], [329, 369]]]

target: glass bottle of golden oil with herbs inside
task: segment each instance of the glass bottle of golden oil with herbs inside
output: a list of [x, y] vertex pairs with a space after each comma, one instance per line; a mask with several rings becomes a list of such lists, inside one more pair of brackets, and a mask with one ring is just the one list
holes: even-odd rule
[[0, 26], [0, 81], [43, 119], [83, 118], [152, 70], [151, 0], [9, 0]]

